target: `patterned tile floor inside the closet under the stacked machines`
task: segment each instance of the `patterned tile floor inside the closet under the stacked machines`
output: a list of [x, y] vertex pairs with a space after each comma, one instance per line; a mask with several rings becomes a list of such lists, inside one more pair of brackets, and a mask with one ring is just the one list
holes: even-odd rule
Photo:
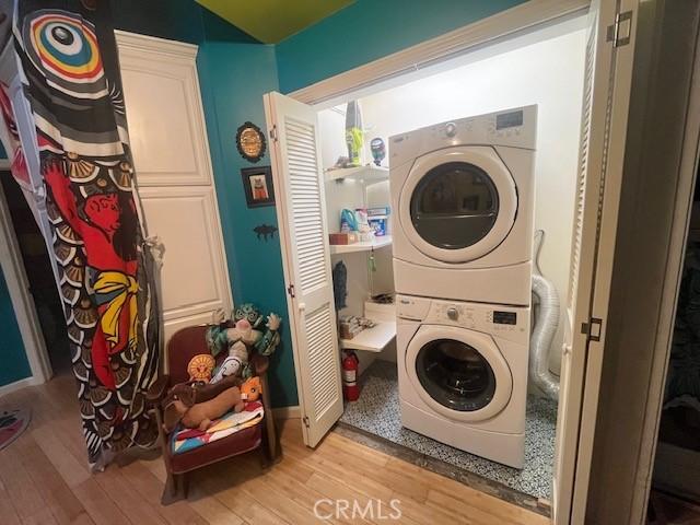
[[557, 405], [530, 397], [522, 470], [468, 454], [401, 427], [396, 364], [375, 361], [360, 378], [362, 394], [340, 421], [534, 498], [550, 499]]

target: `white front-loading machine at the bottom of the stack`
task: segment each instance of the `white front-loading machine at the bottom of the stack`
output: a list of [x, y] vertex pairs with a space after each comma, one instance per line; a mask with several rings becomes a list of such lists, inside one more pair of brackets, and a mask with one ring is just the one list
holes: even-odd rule
[[522, 468], [529, 307], [397, 296], [401, 424]]

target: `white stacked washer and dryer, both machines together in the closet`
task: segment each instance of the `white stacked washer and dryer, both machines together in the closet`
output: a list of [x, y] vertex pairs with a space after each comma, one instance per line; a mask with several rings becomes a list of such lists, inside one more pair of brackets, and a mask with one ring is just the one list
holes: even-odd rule
[[537, 106], [389, 139], [404, 427], [522, 468]]

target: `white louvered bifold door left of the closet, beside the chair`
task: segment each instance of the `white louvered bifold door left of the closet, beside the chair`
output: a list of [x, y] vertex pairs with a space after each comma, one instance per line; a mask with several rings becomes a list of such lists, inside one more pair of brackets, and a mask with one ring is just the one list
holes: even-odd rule
[[316, 446], [342, 413], [316, 112], [279, 93], [265, 110], [304, 443]]

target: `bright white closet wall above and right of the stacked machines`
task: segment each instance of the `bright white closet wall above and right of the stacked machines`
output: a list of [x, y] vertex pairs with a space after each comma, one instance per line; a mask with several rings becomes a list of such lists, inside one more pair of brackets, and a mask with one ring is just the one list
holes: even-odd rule
[[[392, 135], [431, 124], [538, 105], [535, 228], [546, 232], [540, 268], [562, 303], [569, 280], [584, 48], [585, 32], [576, 30], [361, 100], [368, 148], [374, 137], [388, 143]], [[371, 159], [369, 151], [365, 159]], [[552, 343], [555, 372], [560, 366], [562, 325], [563, 318]]]

